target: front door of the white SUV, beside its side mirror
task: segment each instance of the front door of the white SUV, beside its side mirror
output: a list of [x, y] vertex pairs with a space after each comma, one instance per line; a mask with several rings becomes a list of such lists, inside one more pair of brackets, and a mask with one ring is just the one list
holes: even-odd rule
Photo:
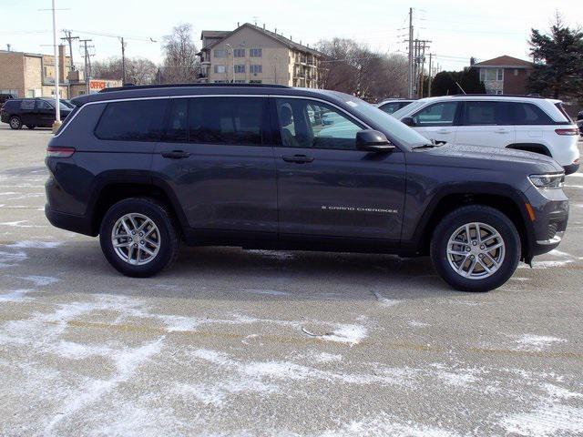
[[414, 130], [438, 143], [455, 143], [459, 103], [438, 102], [414, 113]]

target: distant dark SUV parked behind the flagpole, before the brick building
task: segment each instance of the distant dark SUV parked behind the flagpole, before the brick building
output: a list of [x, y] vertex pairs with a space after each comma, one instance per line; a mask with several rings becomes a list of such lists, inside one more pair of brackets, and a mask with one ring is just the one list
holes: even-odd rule
[[[59, 103], [61, 119], [64, 120], [73, 108], [62, 101]], [[6, 100], [0, 109], [0, 120], [13, 129], [51, 127], [56, 117], [55, 105], [52, 97], [13, 98]]]

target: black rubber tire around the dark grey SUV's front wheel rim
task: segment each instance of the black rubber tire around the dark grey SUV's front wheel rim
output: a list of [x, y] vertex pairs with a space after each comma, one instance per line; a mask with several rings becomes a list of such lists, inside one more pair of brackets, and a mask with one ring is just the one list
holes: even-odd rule
[[[501, 259], [500, 266], [493, 274], [481, 279], [468, 279], [455, 271], [450, 264], [447, 245], [456, 229], [463, 227], [466, 223], [476, 222], [486, 224], [499, 233], [504, 242], [505, 252], [504, 259]], [[431, 240], [431, 259], [435, 270], [445, 282], [461, 291], [481, 292], [500, 287], [514, 274], [520, 260], [520, 254], [520, 235], [512, 220], [495, 208], [481, 205], [458, 208], [446, 215], [435, 228]], [[469, 270], [471, 261], [467, 262], [465, 269]], [[485, 272], [481, 265], [478, 266], [478, 269]]]

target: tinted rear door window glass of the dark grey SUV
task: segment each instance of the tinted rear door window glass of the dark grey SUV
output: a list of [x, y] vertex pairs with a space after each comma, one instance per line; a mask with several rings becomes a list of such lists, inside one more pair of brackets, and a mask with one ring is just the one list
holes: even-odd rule
[[202, 144], [261, 146], [261, 97], [189, 99], [189, 141]]

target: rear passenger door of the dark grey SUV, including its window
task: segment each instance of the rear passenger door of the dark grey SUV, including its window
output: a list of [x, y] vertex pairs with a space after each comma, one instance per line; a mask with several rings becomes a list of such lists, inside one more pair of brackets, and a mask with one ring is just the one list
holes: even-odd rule
[[179, 97], [153, 169], [199, 236], [277, 238], [267, 97]]

